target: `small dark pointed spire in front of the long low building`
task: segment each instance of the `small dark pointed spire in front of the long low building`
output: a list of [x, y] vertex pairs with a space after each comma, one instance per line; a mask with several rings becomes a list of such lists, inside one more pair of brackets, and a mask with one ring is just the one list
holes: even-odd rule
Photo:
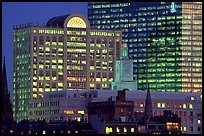
[[147, 96], [146, 96], [146, 102], [145, 102], [145, 112], [144, 112], [145, 117], [152, 117], [152, 101], [151, 101], [151, 96], [150, 96], [150, 89], [149, 89], [149, 84], [148, 84], [148, 90], [147, 90]]

